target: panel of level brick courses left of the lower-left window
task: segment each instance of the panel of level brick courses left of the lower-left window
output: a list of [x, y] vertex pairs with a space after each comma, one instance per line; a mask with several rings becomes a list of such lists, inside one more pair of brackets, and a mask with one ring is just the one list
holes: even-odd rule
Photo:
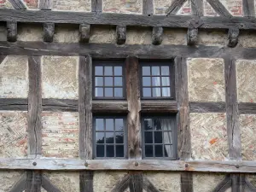
[[77, 158], [79, 156], [79, 113], [42, 113], [43, 156]]

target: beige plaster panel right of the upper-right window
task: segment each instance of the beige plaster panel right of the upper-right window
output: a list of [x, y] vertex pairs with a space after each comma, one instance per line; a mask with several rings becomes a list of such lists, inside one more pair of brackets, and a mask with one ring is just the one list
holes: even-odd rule
[[189, 102], [224, 102], [224, 60], [189, 58]]

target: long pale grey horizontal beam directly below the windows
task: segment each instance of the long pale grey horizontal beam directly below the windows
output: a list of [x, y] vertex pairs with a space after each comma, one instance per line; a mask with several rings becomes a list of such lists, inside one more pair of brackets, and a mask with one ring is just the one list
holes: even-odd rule
[[131, 170], [166, 172], [256, 172], [255, 161], [236, 160], [80, 160], [0, 159], [0, 169], [12, 170]]

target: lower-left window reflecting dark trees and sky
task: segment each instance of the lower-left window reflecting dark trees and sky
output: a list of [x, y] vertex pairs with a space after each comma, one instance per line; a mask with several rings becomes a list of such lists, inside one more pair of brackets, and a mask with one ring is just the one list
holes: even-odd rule
[[95, 158], [125, 158], [125, 118], [121, 116], [94, 118]]

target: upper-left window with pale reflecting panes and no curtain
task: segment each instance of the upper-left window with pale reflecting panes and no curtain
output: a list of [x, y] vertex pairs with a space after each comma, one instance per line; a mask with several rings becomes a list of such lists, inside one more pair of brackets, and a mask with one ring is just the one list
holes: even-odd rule
[[122, 62], [96, 61], [93, 67], [93, 93], [96, 99], [124, 99], [125, 72]]

